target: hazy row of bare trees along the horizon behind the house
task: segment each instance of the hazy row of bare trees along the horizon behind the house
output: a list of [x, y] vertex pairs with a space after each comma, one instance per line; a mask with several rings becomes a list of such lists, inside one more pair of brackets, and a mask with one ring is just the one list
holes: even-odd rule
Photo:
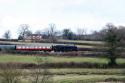
[[[118, 26], [108, 23], [104, 28], [102, 28], [100, 31], [93, 31], [90, 34], [86, 33], [85, 28], [77, 28], [76, 32], [73, 32], [69, 28], [65, 28], [62, 31], [58, 31], [55, 24], [49, 24], [48, 28], [45, 30], [37, 30], [34, 34], [41, 34], [43, 36], [43, 39], [50, 39], [51, 42], [56, 41], [57, 39], [67, 39], [67, 40], [93, 40], [93, 41], [103, 41], [104, 35], [106, 34], [107, 28], [111, 25], [113, 28], [117, 28], [119, 33], [125, 34], [125, 27], [124, 26]], [[27, 36], [33, 34], [33, 32], [30, 30], [30, 26], [28, 24], [21, 24], [18, 29], [18, 39], [23, 40]], [[3, 38], [5, 39], [11, 39], [11, 32], [10, 30], [7, 30], [3, 34]]]

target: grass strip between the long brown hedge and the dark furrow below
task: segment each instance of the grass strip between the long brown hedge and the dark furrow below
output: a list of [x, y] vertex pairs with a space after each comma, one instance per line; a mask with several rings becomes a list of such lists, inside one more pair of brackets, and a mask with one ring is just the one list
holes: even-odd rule
[[[125, 75], [125, 69], [89, 69], [89, 68], [61, 68], [48, 69], [53, 75]], [[34, 69], [24, 69], [25, 74], [31, 74]]]

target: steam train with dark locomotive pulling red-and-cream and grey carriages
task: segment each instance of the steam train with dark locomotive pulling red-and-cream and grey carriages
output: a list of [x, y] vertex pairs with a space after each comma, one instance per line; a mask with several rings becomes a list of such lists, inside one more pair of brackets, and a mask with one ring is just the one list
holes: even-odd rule
[[69, 52], [78, 51], [75, 45], [51, 45], [51, 46], [32, 46], [32, 45], [0, 45], [2, 50], [17, 51], [43, 51], [43, 52]]

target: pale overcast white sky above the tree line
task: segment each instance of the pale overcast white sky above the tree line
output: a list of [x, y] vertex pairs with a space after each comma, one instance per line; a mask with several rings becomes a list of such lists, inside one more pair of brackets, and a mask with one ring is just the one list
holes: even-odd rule
[[11, 30], [16, 37], [20, 24], [32, 31], [55, 23], [58, 30], [100, 30], [106, 23], [125, 25], [125, 0], [0, 0], [0, 37]]

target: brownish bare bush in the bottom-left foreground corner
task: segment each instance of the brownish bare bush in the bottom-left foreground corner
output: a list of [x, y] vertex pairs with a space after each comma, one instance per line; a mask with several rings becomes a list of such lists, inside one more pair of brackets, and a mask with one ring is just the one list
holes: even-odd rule
[[17, 66], [11, 63], [6, 63], [1, 66], [1, 80], [0, 83], [20, 83], [20, 77], [22, 75], [21, 70], [17, 69]]

